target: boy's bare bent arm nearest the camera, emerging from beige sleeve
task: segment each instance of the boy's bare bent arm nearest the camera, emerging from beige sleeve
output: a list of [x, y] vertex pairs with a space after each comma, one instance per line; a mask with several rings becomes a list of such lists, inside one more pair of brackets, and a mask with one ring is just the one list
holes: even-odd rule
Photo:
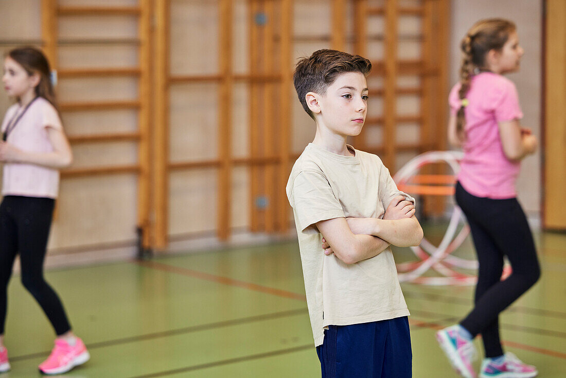
[[324, 243], [332, 246], [325, 254], [334, 253], [345, 264], [377, 256], [389, 247], [389, 243], [379, 237], [355, 235], [345, 218], [321, 220], [316, 227], [322, 233]]

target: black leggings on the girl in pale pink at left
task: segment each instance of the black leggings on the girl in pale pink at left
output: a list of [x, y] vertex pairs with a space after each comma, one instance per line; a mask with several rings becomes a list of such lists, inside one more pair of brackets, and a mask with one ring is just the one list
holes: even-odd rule
[[57, 335], [71, 329], [63, 304], [43, 277], [55, 200], [6, 196], [0, 204], [0, 334], [6, 322], [7, 286], [16, 254], [22, 283], [49, 318]]

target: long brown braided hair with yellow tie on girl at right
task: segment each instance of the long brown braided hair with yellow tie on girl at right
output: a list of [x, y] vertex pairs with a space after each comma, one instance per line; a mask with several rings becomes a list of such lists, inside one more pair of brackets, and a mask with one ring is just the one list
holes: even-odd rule
[[471, 77], [475, 72], [486, 69], [486, 55], [490, 50], [501, 50], [516, 30], [515, 24], [509, 20], [491, 18], [479, 20], [462, 39], [462, 65], [460, 66], [460, 91], [458, 95], [462, 104], [456, 113], [456, 133], [464, 141], [466, 118], [464, 109], [468, 105], [466, 95], [470, 90]]

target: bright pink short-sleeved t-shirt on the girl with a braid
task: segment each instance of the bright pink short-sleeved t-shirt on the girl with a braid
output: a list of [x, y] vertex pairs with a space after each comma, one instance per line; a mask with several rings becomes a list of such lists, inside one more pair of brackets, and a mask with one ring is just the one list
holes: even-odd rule
[[[452, 114], [460, 109], [458, 90], [460, 83], [449, 95]], [[466, 98], [466, 141], [458, 181], [476, 197], [516, 197], [515, 181], [521, 165], [505, 156], [498, 122], [522, 118], [517, 89], [511, 80], [484, 72], [471, 78]]]

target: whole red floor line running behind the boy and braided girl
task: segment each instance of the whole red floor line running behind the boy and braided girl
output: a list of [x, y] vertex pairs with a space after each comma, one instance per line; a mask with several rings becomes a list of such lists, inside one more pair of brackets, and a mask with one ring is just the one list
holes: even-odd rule
[[[185, 267], [178, 267], [178, 266], [173, 266], [173, 265], [161, 264], [161, 262], [156, 262], [156, 261], [135, 260], [134, 262], [135, 262], [135, 264], [145, 266], [145, 267], [149, 267], [149, 268], [152, 268], [152, 269], [168, 271], [170, 273], [177, 273], [177, 274], [181, 274], [181, 275], [186, 275], [187, 277], [204, 279], [206, 281], [222, 283], [222, 284], [226, 284], [226, 285], [229, 285], [229, 286], [242, 287], [242, 288], [246, 288], [248, 290], [254, 290], [254, 291], [263, 292], [265, 294], [280, 296], [282, 298], [298, 299], [298, 300], [302, 300], [302, 301], [307, 300], [306, 296], [303, 295], [303, 294], [297, 294], [297, 293], [291, 292], [291, 291], [280, 290], [280, 289], [267, 287], [267, 286], [261, 286], [261, 285], [255, 284], [255, 283], [239, 281], [237, 279], [222, 277], [221, 275], [208, 274], [208, 273], [204, 273], [204, 272], [198, 271], [198, 270], [187, 269]], [[413, 321], [412, 325], [416, 326], [416, 327], [432, 328], [432, 329], [436, 329], [436, 330], [444, 328], [444, 326], [436, 324], [435, 322]], [[517, 342], [513, 342], [513, 341], [502, 341], [502, 343], [505, 346], [510, 346], [510, 347], [514, 347], [514, 348], [518, 348], [518, 349], [528, 350], [528, 351], [531, 351], [531, 352], [538, 352], [538, 353], [541, 353], [541, 354], [546, 354], [546, 355], [549, 355], [549, 356], [552, 356], [552, 357], [558, 357], [558, 358], [566, 359], [566, 353], [563, 353], [563, 352], [557, 352], [557, 351], [554, 351], [554, 350], [537, 348], [537, 347], [534, 347], [534, 346], [525, 345], [525, 344], [521, 344], [521, 343], [517, 343]]]

